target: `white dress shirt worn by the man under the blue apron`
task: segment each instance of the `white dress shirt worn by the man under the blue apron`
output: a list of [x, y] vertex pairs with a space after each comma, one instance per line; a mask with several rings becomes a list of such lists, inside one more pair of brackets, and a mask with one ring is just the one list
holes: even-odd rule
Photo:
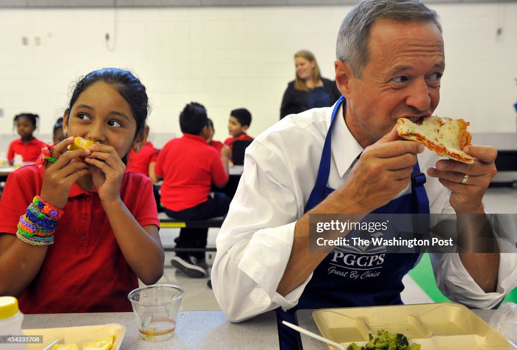
[[[295, 306], [312, 275], [292, 292], [276, 292], [293, 245], [296, 221], [314, 187], [333, 107], [281, 119], [258, 135], [246, 150], [244, 172], [230, 211], [219, 231], [212, 287], [226, 317], [240, 322], [257, 314]], [[345, 125], [342, 107], [332, 126], [328, 186], [340, 187], [362, 147]], [[425, 173], [439, 159], [418, 155]], [[450, 191], [436, 178], [424, 185], [431, 214], [453, 214]], [[410, 192], [410, 186], [399, 195]], [[486, 208], [490, 210], [489, 208]], [[433, 216], [431, 216], [433, 217]], [[431, 218], [432, 219], [432, 218]], [[517, 285], [517, 254], [501, 254], [496, 293], [484, 293], [458, 254], [431, 254], [440, 290], [472, 308], [491, 308]]]

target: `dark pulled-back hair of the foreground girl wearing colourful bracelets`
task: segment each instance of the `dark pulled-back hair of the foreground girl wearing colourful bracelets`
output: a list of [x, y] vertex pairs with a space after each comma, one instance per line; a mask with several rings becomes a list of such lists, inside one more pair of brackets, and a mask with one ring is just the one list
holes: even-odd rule
[[136, 135], [145, 128], [149, 113], [149, 101], [145, 92], [145, 86], [130, 71], [119, 68], [102, 68], [86, 74], [75, 84], [66, 111], [67, 115], [70, 115], [72, 106], [79, 98], [79, 95], [87, 87], [98, 81], [115, 86], [120, 96], [124, 97], [129, 104], [133, 117], [136, 120], [136, 131], [134, 134], [136, 138]]

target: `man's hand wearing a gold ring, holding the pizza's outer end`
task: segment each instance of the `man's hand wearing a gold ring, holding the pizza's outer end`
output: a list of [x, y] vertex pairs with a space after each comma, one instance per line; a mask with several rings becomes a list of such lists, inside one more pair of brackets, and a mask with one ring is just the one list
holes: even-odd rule
[[458, 214], [482, 214], [481, 200], [497, 174], [494, 163], [497, 150], [490, 146], [468, 146], [463, 150], [474, 157], [473, 164], [452, 159], [439, 160], [436, 168], [428, 169], [428, 174], [437, 177], [442, 185], [452, 191], [450, 205]]

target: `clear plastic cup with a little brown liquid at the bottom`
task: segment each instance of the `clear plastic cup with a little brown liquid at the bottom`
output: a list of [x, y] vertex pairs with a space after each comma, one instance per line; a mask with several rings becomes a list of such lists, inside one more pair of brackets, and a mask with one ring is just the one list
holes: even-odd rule
[[162, 342], [174, 337], [181, 297], [185, 291], [172, 284], [153, 284], [128, 294], [142, 339]]

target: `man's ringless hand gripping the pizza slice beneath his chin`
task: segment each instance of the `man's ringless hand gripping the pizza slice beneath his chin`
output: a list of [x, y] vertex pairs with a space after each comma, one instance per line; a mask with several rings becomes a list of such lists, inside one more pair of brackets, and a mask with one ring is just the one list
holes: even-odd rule
[[364, 149], [345, 184], [338, 189], [368, 213], [403, 191], [410, 182], [416, 155], [424, 146], [414, 141], [402, 141], [397, 125], [389, 133]]

